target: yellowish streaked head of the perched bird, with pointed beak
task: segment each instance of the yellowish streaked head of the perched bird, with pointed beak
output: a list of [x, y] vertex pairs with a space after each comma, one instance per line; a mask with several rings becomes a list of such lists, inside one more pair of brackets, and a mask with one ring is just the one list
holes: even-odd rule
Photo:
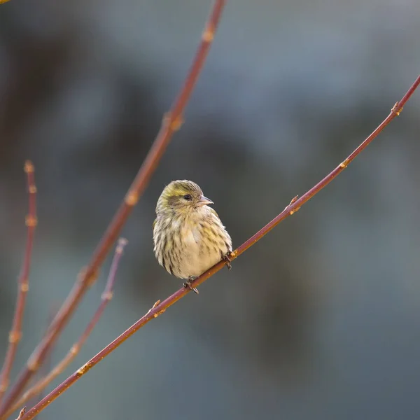
[[213, 204], [204, 197], [202, 189], [193, 181], [172, 181], [159, 197], [156, 214], [188, 215], [207, 204]]

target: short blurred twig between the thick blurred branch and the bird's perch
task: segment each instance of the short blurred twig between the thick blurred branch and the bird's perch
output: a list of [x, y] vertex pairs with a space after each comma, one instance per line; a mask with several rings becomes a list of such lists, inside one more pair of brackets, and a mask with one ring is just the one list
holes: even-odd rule
[[24, 405], [25, 402], [33, 398], [38, 393], [41, 393], [45, 386], [48, 386], [48, 384], [50, 384], [59, 374], [64, 372], [66, 367], [78, 355], [83, 344], [85, 344], [92, 330], [97, 325], [99, 318], [101, 318], [102, 314], [104, 313], [106, 305], [109, 304], [113, 297], [113, 288], [114, 283], [116, 281], [118, 265], [120, 263], [121, 256], [123, 255], [124, 247], [126, 245], [127, 239], [120, 238], [120, 240], [118, 241], [118, 245], [116, 246], [116, 252], [111, 263], [111, 269], [109, 270], [108, 281], [106, 282], [104, 293], [102, 293], [101, 303], [99, 304], [97, 311], [94, 313], [94, 316], [92, 316], [90, 323], [87, 324], [85, 331], [82, 335], [80, 335], [78, 341], [74, 343], [73, 346], [71, 346], [69, 353], [66, 354], [66, 356], [54, 367], [54, 369], [52, 369], [47, 375], [45, 375], [45, 377], [39, 379], [39, 381], [37, 381], [36, 384], [34, 384], [34, 386], [31, 386], [31, 388], [29, 388], [28, 391], [26, 391], [25, 394], [22, 395], [22, 398], [20, 398], [18, 402], [15, 402], [15, 404], [13, 404], [13, 406], [8, 410], [8, 412], [6, 412], [6, 414], [1, 418], [7, 419], [8, 416], [10, 416], [10, 414], [15, 412], [15, 410], [19, 407], [22, 407], [22, 405]]

